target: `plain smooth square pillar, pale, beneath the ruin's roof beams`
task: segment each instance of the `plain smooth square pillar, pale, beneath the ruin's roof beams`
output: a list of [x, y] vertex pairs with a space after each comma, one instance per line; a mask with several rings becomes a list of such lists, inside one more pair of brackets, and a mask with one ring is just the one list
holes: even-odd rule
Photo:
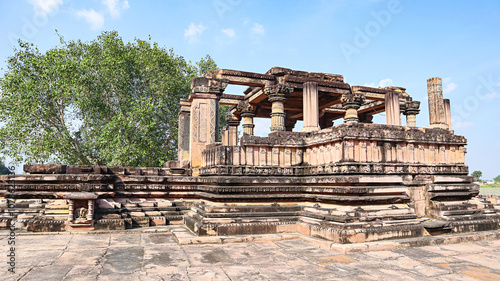
[[319, 130], [318, 83], [305, 82], [303, 89], [304, 127], [302, 132]]

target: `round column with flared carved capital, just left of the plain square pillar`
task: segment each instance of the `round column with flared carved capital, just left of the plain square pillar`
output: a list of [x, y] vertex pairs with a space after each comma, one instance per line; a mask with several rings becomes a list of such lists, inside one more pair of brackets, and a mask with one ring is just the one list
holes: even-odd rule
[[285, 131], [285, 101], [293, 89], [283, 85], [267, 85], [264, 93], [271, 102], [271, 132]]

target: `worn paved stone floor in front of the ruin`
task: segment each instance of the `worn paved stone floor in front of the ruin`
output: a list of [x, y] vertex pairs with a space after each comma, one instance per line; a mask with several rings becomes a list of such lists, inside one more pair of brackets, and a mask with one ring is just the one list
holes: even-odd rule
[[179, 246], [169, 233], [0, 238], [0, 280], [500, 280], [500, 240], [340, 254], [300, 239]]

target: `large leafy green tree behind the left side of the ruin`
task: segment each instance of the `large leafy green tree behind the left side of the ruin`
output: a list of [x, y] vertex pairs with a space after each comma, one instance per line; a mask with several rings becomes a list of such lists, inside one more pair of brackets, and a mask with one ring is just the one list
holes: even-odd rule
[[[41, 53], [19, 41], [0, 79], [0, 152], [14, 163], [161, 166], [177, 156], [179, 99], [217, 66], [116, 31]], [[224, 112], [221, 112], [224, 114]]]

